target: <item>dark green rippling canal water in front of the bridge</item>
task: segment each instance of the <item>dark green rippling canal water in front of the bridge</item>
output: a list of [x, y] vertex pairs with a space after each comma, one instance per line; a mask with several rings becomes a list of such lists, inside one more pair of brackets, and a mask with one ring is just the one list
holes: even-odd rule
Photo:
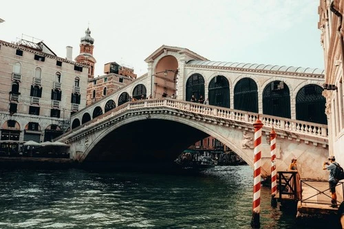
[[[252, 173], [0, 169], [0, 228], [250, 228]], [[269, 187], [261, 189], [260, 222], [307, 228], [270, 206]]]

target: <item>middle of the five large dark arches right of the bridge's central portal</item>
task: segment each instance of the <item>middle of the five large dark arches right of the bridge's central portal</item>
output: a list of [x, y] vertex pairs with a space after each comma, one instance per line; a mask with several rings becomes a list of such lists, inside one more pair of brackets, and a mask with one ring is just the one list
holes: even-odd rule
[[258, 113], [258, 88], [255, 80], [241, 78], [234, 87], [234, 109]]

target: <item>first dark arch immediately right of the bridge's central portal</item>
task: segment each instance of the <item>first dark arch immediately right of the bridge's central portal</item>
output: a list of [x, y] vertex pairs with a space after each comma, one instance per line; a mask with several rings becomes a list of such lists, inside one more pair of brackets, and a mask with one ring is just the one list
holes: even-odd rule
[[192, 74], [186, 81], [186, 101], [190, 101], [192, 95], [197, 100], [200, 96], [204, 98], [204, 78], [201, 74]]

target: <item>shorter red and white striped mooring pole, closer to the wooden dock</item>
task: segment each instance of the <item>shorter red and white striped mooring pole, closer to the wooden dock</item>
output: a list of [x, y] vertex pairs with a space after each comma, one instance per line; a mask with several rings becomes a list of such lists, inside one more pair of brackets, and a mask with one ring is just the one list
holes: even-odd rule
[[277, 171], [276, 171], [276, 132], [272, 127], [270, 132], [270, 150], [271, 150], [271, 206], [277, 207]]

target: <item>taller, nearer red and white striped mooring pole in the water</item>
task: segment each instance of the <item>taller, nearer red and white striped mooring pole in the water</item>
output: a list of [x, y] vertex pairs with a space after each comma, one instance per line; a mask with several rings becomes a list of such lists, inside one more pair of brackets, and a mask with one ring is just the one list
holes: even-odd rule
[[263, 123], [259, 120], [259, 115], [257, 120], [253, 124], [255, 127], [255, 164], [254, 164], [254, 173], [253, 173], [253, 210], [252, 210], [252, 228], [260, 228], [260, 186], [261, 186], [261, 127]]

